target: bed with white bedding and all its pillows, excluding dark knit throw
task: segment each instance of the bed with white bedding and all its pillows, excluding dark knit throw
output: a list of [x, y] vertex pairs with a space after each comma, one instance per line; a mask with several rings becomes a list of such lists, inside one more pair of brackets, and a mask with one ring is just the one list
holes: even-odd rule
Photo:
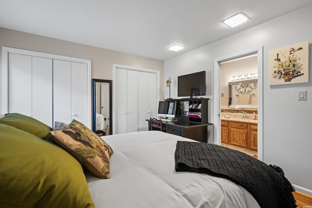
[[144, 131], [100, 139], [76, 120], [52, 129], [8, 113], [0, 118], [0, 142], [0, 207], [260, 207], [231, 180], [177, 172], [177, 144], [195, 142], [173, 134]]

